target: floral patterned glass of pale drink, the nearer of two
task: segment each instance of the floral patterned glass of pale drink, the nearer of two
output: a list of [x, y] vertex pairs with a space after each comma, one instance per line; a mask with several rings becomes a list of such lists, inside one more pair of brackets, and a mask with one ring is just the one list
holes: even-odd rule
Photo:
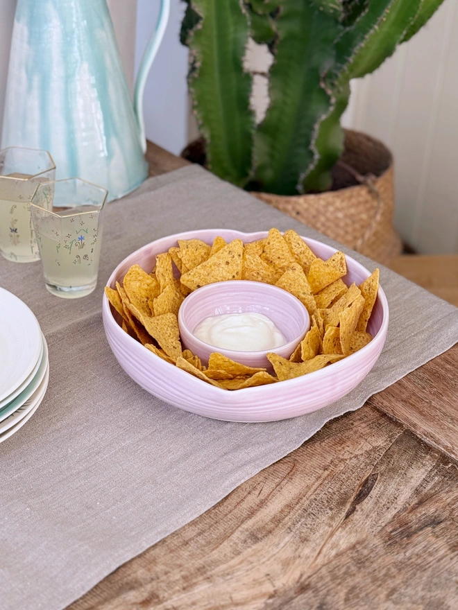
[[101, 211], [108, 191], [79, 178], [40, 184], [31, 202], [46, 288], [74, 299], [97, 284]]

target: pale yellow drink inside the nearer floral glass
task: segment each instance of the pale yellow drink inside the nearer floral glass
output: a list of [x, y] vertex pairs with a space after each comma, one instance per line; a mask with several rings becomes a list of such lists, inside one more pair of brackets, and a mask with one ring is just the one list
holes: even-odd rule
[[69, 299], [92, 293], [99, 269], [100, 208], [85, 205], [77, 210], [35, 216], [46, 287]]

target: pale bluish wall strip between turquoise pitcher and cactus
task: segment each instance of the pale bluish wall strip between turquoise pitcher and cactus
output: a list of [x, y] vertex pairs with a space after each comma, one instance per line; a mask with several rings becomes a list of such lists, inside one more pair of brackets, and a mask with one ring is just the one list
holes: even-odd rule
[[[158, 16], [159, 0], [138, 0], [135, 72]], [[187, 48], [180, 44], [185, 3], [171, 0], [169, 24], [146, 82], [146, 137], [178, 155], [187, 143]]]

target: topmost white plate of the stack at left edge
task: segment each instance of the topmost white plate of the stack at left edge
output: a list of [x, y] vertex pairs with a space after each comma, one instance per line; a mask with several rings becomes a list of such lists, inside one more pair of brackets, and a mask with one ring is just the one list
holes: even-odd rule
[[25, 303], [0, 288], [0, 400], [31, 374], [42, 349], [42, 331]]

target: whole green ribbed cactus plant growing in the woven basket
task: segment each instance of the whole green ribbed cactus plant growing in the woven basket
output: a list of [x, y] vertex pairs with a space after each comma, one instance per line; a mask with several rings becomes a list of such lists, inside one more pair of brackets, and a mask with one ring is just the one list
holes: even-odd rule
[[[324, 191], [343, 151], [350, 79], [372, 72], [443, 0], [185, 0], [189, 91], [207, 168], [255, 191]], [[273, 55], [259, 125], [249, 37]]]

